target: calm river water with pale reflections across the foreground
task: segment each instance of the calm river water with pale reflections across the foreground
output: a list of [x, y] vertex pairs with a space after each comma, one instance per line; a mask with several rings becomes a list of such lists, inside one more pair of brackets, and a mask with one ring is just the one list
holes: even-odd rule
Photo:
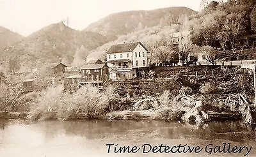
[[[108, 154], [106, 144], [138, 146], [252, 146], [256, 156], [255, 126], [243, 122], [196, 125], [176, 121], [27, 121], [0, 119], [0, 156], [209, 156], [208, 153]], [[142, 148], [141, 148], [142, 150]], [[210, 156], [243, 156], [213, 153]]]

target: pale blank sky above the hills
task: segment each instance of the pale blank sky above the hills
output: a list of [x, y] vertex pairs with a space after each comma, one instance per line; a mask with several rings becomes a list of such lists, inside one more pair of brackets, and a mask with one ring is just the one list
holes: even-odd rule
[[128, 10], [154, 10], [186, 6], [195, 11], [201, 0], [0, 0], [0, 26], [28, 36], [60, 22], [65, 17], [69, 26], [82, 30], [110, 13]]

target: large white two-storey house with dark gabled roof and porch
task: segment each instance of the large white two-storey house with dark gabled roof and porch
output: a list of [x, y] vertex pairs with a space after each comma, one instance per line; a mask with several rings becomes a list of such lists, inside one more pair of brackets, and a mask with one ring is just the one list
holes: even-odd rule
[[150, 53], [141, 42], [113, 45], [106, 53], [112, 80], [135, 78], [150, 63]]

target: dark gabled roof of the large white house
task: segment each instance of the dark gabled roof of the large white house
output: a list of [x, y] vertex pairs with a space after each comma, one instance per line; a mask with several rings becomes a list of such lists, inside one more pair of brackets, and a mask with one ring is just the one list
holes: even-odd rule
[[122, 43], [122, 44], [112, 45], [112, 47], [108, 49], [107, 54], [130, 52], [131, 50], [134, 50], [138, 44], [140, 44], [145, 50], [147, 50], [147, 48], [141, 42]]

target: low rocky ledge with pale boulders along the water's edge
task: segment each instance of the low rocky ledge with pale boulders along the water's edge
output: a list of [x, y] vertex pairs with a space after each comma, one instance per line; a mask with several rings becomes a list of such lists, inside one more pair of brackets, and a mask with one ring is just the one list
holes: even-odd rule
[[202, 101], [191, 101], [193, 107], [159, 108], [159, 103], [146, 98], [134, 104], [132, 110], [115, 111], [106, 114], [108, 119], [148, 119], [148, 120], [182, 120], [204, 123], [205, 121], [241, 120], [242, 115], [237, 112], [214, 112], [203, 109]]

